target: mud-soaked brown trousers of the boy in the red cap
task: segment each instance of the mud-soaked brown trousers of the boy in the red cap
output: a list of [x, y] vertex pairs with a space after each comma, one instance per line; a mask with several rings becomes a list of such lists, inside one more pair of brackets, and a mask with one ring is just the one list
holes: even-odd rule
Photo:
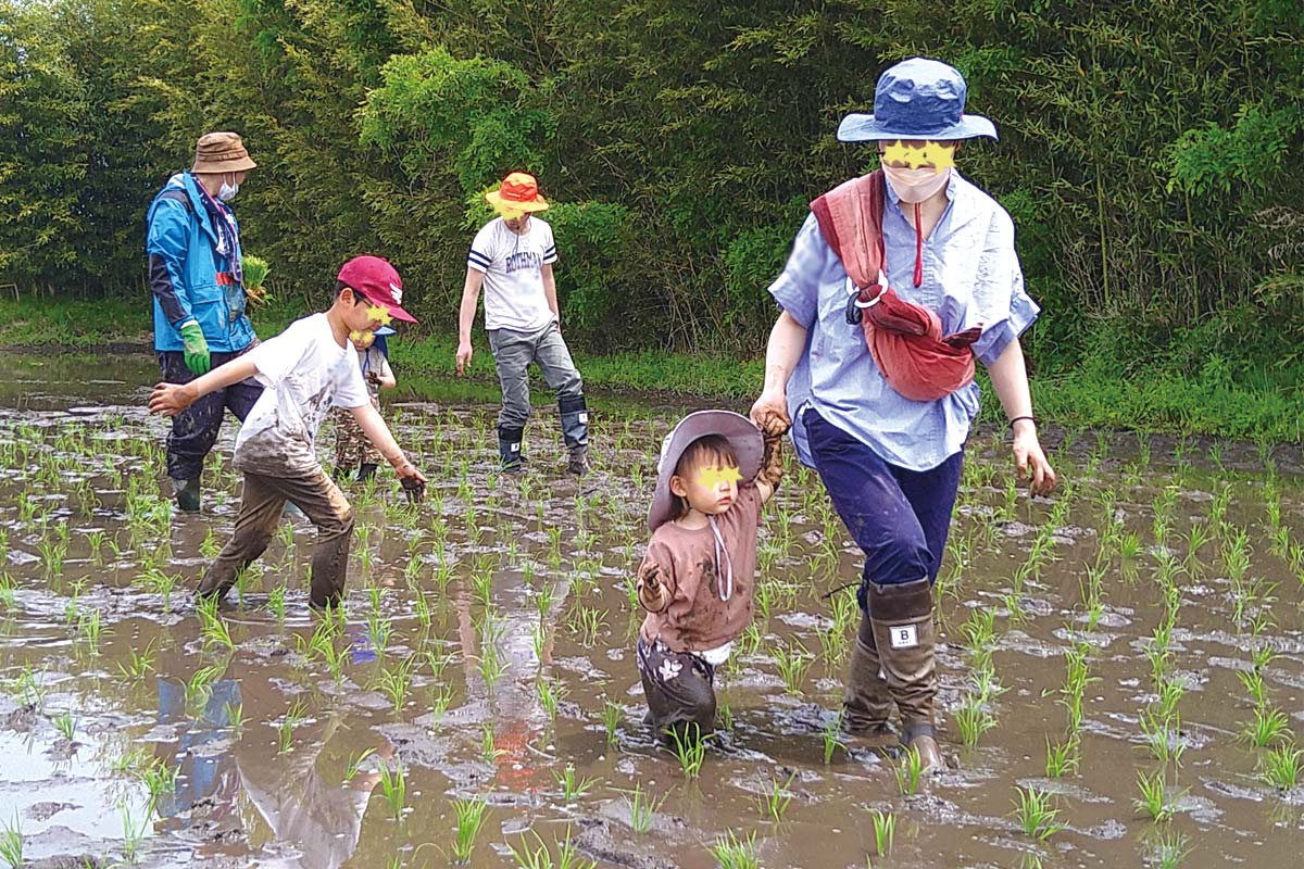
[[235, 533], [200, 582], [200, 594], [224, 597], [236, 575], [267, 548], [280, 525], [280, 512], [291, 502], [317, 526], [313, 550], [312, 605], [339, 603], [353, 542], [353, 508], [321, 468], [303, 477], [244, 476], [244, 494]]

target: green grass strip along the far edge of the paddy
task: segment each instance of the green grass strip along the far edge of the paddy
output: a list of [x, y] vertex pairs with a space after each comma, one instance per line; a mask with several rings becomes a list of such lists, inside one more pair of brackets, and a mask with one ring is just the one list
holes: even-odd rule
[[[295, 317], [284, 307], [257, 311], [254, 323], [275, 335]], [[136, 300], [0, 300], [0, 347], [140, 347], [151, 341], [149, 307]], [[451, 323], [451, 321], [450, 321]], [[456, 343], [451, 335], [396, 340], [391, 360], [402, 379], [449, 377]], [[763, 361], [707, 354], [642, 350], [613, 356], [575, 352], [584, 382], [593, 388], [652, 395], [746, 401], [762, 382]], [[471, 377], [494, 382], [493, 357], [476, 336]], [[981, 421], [999, 423], [1001, 410], [979, 369]], [[1249, 387], [1206, 382], [1175, 371], [1108, 378], [1098, 371], [1064, 370], [1031, 380], [1033, 404], [1043, 422], [1065, 429], [1127, 429], [1146, 433], [1208, 435], [1254, 443], [1304, 442], [1304, 387]]]

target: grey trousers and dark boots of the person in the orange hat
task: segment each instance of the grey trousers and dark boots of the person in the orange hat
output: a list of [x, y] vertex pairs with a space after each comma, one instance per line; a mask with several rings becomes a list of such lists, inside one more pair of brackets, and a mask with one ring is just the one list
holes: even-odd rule
[[502, 410], [498, 412], [498, 453], [502, 466], [520, 466], [520, 444], [529, 420], [529, 363], [539, 365], [549, 388], [557, 392], [562, 438], [571, 455], [588, 448], [588, 408], [584, 404], [584, 380], [575, 369], [570, 349], [557, 323], [537, 332], [514, 332], [506, 328], [489, 331], [502, 386]]

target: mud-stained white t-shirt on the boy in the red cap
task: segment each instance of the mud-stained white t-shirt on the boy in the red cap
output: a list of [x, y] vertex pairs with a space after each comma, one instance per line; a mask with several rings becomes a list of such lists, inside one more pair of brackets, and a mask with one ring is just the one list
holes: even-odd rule
[[326, 315], [313, 314], [246, 356], [263, 392], [240, 426], [231, 464], [269, 477], [318, 470], [313, 442], [326, 410], [370, 404], [353, 345], [340, 347]]

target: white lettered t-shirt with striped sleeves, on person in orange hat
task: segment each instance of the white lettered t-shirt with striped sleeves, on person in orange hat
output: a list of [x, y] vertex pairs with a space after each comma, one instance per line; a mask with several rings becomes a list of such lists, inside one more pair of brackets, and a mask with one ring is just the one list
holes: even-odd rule
[[494, 218], [471, 242], [467, 266], [482, 272], [485, 328], [537, 332], [556, 318], [544, 296], [544, 266], [557, 262], [553, 228], [529, 219], [529, 232], [518, 236]]

